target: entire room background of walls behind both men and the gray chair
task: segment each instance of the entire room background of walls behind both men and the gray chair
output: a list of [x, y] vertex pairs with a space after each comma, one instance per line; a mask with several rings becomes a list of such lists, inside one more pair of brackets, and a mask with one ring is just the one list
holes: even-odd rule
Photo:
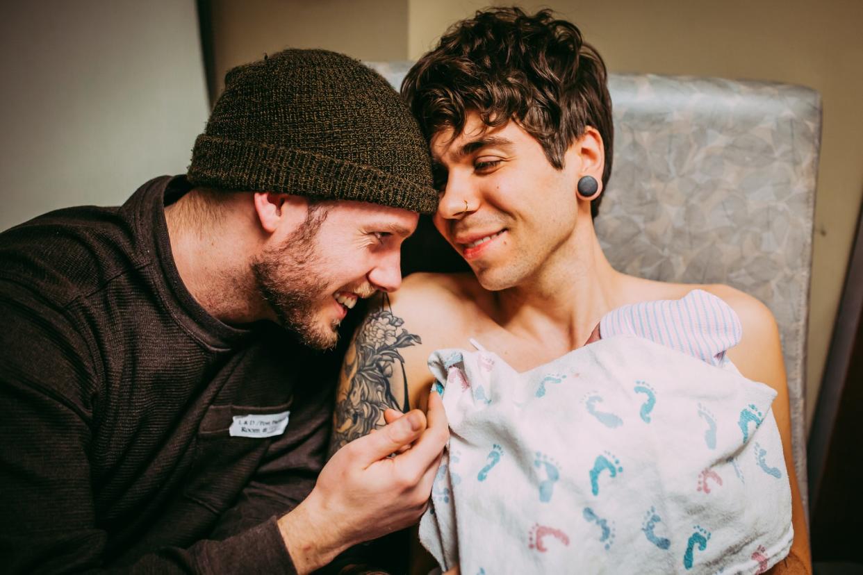
[[[186, 171], [231, 67], [285, 47], [417, 59], [469, 0], [3, 3], [0, 230], [117, 205]], [[797, 84], [821, 96], [803, 396], [816, 572], [863, 571], [863, 2], [558, 0], [609, 72]], [[817, 138], [817, 135], [816, 135]], [[809, 230], [806, 230], [809, 233]], [[803, 254], [808, 257], [808, 254]]]

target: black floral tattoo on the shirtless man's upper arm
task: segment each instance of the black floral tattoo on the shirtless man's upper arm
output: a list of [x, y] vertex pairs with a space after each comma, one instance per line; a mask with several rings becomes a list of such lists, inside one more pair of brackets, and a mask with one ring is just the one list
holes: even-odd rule
[[[405, 359], [399, 350], [422, 340], [402, 328], [403, 323], [392, 311], [375, 309], [351, 342], [341, 375], [343, 391], [336, 402], [331, 455], [349, 441], [381, 427], [387, 408], [403, 413], [410, 409]], [[347, 386], [344, 381], [349, 382]]]

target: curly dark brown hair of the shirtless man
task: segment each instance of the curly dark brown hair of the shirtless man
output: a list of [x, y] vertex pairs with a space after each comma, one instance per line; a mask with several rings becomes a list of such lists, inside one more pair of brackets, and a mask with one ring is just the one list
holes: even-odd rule
[[[606, 76], [602, 57], [575, 24], [550, 9], [528, 16], [520, 8], [494, 8], [451, 26], [407, 72], [401, 94], [426, 140], [443, 128], [461, 134], [469, 111], [489, 127], [513, 119], [557, 170], [566, 149], [593, 127], [605, 151], [604, 189], [614, 142]], [[601, 199], [591, 203], [594, 217]]]

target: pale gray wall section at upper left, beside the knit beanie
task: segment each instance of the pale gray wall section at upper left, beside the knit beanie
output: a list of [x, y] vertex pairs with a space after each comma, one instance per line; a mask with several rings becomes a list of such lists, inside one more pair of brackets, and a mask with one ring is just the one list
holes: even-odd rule
[[0, 230], [186, 172], [209, 111], [193, 0], [6, 3], [0, 69]]

